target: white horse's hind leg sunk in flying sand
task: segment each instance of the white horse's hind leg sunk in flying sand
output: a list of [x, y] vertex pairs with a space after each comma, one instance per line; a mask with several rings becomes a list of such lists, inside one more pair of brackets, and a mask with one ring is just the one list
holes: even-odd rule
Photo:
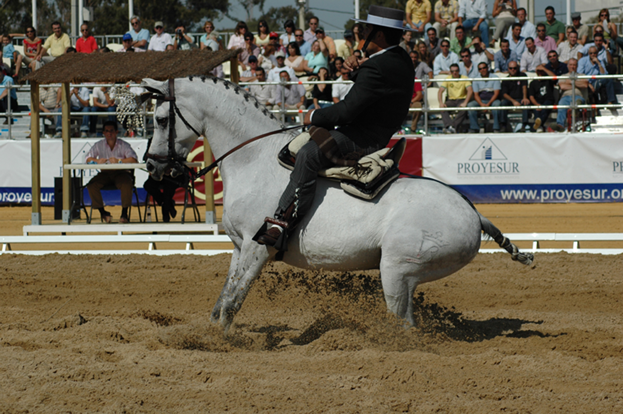
[[388, 310], [399, 318], [405, 319], [410, 326], [414, 326], [413, 294], [416, 291], [419, 279], [414, 276], [412, 263], [397, 263], [398, 258], [392, 256], [381, 257], [381, 283]]

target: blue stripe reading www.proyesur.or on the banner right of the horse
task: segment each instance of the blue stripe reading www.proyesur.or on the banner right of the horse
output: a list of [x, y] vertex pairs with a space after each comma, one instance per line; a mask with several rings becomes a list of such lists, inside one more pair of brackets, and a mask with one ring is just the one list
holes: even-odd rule
[[452, 186], [474, 203], [623, 202], [623, 184]]

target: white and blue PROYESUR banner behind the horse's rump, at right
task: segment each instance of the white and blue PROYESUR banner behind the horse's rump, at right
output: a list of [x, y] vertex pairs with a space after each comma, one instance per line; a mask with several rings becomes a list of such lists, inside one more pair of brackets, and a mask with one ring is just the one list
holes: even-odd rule
[[425, 137], [422, 165], [475, 203], [623, 201], [616, 134]]

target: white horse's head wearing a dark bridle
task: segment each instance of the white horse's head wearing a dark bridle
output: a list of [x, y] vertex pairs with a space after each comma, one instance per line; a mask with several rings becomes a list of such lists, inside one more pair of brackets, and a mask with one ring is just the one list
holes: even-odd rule
[[192, 112], [193, 105], [185, 101], [189, 98], [184, 96], [184, 83], [149, 78], [141, 83], [156, 98], [154, 136], [148, 148], [147, 171], [158, 181], [164, 174], [176, 177], [183, 173], [183, 162], [201, 134], [201, 126]]

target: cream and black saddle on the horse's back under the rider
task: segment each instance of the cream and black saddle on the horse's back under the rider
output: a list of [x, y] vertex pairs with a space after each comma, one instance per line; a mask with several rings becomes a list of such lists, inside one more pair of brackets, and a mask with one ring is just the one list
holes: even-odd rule
[[[294, 169], [298, 151], [310, 141], [305, 131], [286, 144], [278, 154], [278, 161], [287, 169]], [[340, 187], [348, 194], [364, 200], [372, 200], [389, 183], [400, 175], [398, 163], [404, 154], [406, 139], [401, 138], [392, 148], [379, 149], [363, 156], [354, 167], [331, 167], [318, 171], [318, 175], [339, 181]]]

